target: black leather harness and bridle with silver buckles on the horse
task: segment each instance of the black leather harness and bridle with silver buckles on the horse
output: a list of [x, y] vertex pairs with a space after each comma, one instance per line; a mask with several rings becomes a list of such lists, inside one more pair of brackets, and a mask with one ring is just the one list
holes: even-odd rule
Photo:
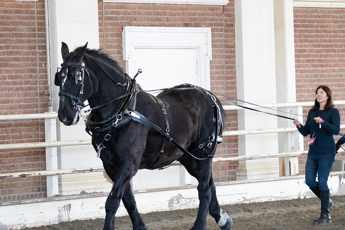
[[[95, 61], [92, 57], [90, 57], [89, 55], [86, 55], [89, 58], [91, 58], [93, 61]], [[96, 62], [96, 61], [95, 61]], [[96, 62], [97, 63], [97, 62]], [[97, 63], [98, 64], [98, 63]], [[188, 152], [186, 149], [184, 149], [182, 146], [180, 146], [180, 144], [178, 144], [173, 138], [170, 137], [169, 135], [169, 131], [170, 131], [170, 127], [169, 127], [169, 122], [168, 122], [168, 116], [167, 116], [167, 110], [165, 109], [165, 104], [157, 97], [152, 96], [151, 94], [148, 94], [148, 96], [150, 96], [150, 98], [155, 101], [155, 103], [157, 104], [157, 106], [159, 106], [162, 110], [162, 113], [164, 114], [165, 117], [165, 126], [166, 129], [162, 130], [159, 126], [157, 126], [156, 124], [154, 124], [153, 122], [151, 122], [149, 119], [147, 119], [145, 116], [143, 116], [142, 114], [140, 114], [139, 112], [135, 111], [135, 107], [136, 107], [136, 97], [137, 97], [137, 93], [139, 92], [139, 87], [138, 84], [136, 83], [135, 78], [138, 76], [139, 73], [141, 73], [141, 69], [138, 70], [137, 74], [135, 75], [135, 77], [133, 79], [131, 79], [127, 74], [126, 74], [126, 82], [124, 84], [121, 83], [117, 83], [115, 82], [117, 85], [120, 86], [126, 86], [126, 92], [124, 95], [115, 98], [107, 103], [110, 103], [112, 101], [115, 100], [119, 100], [122, 99], [118, 108], [114, 111], [114, 113], [112, 113], [107, 119], [100, 121], [100, 122], [95, 122], [92, 121], [92, 110], [100, 108], [102, 106], [105, 106], [105, 104], [99, 105], [97, 107], [91, 108], [87, 111], [83, 111], [83, 108], [85, 107], [85, 104], [83, 102], [80, 101], [80, 97], [81, 94], [83, 94], [83, 87], [84, 87], [84, 79], [85, 79], [85, 72], [87, 73], [88, 78], [90, 79], [90, 75], [88, 70], [85, 68], [85, 63], [62, 63], [61, 64], [61, 70], [62, 69], [66, 69], [66, 74], [62, 73], [61, 76], [63, 77], [63, 79], [61, 80], [61, 82], [58, 80], [58, 73], [59, 71], [57, 71], [57, 73], [55, 74], [55, 85], [57, 86], [62, 86], [63, 89], [63, 84], [65, 83], [66, 79], [67, 79], [67, 73], [68, 73], [68, 69], [69, 68], [75, 68], [77, 66], [81, 66], [81, 70], [80, 71], [76, 71], [76, 76], [75, 76], [75, 83], [77, 86], [80, 86], [80, 90], [79, 90], [79, 95], [78, 97], [72, 96], [69, 92], [68, 89], [66, 88], [66, 91], [61, 91], [61, 87], [60, 87], [60, 92], [59, 92], [59, 96], [64, 95], [67, 96], [71, 99], [72, 104], [74, 106], [74, 108], [81, 114], [81, 112], [90, 112], [90, 114], [84, 118], [85, 120], [85, 125], [86, 125], [86, 132], [88, 134], [90, 134], [90, 136], [92, 137], [92, 133], [94, 132], [103, 132], [103, 131], [108, 131], [108, 133], [105, 135], [105, 137], [102, 139], [100, 144], [96, 144], [97, 145], [97, 157], [100, 157], [101, 151], [106, 148], [105, 143], [107, 141], [110, 140], [111, 136], [114, 134], [116, 128], [121, 127], [121, 126], [125, 126], [131, 119], [134, 121], [137, 121], [139, 123], [145, 124], [146, 126], [149, 126], [151, 128], [154, 128], [155, 130], [157, 130], [159, 133], [162, 134], [162, 136], [164, 137], [164, 141], [162, 144], [162, 148], [161, 151], [157, 153], [154, 161], [149, 165], [154, 165], [155, 163], [158, 162], [158, 160], [160, 159], [160, 157], [162, 156], [162, 154], [164, 153], [164, 146], [165, 146], [165, 142], [168, 140], [170, 143], [172, 143], [175, 147], [177, 147], [179, 150], [181, 150], [183, 153], [190, 155], [191, 157], [198, 159], [198, 160], [204, 160], [207, 158], [212, 158], [214, 156], [214, 149], [217, 146], [217, 143], [222, 142], [223, 138], [222, 138], [222, 128], [223, 128], [223, 123], [222, 123], [222, 118], [221, 118], [221, 114], [220, 114], [220, 108], [216, 102], [216, 97], [212, 94], [210, 94], [207, 90], [204, 90], [200, 87], [197, 86], [193, 86], [191, 84], [182, 84], [180, 86], [176, 86], [173, 88], [170, 88], [172, 90], [178, 90], [181, 89], [179, 87], [184, 86], [184, 85], [189, 85], [192, 86], [194, 89], [196, 90], [204, 90], [204, 92], [210, 96], [210, 98], [213, 101], [213, 108], [214, 108], [214, 116], [213, 116], [213, 132], [211, 133], [211, 135], [209, 136], [208, 139], [206, 139], [205, 141], [203, 141], [201, 144], [199, 144], [199, 146], [197, 146], [195, 149], [193, 149], [192, 151]], [[99, 66], [99, 64], [98, 64]], [[106, 73], [106, 71], [101, 68], [103, 72]], [[59, 70], [59, 68], [58, 68]], [[106, 73], [107, 74], [107, 73]], [[65, 77], [66, 76], [66, 77]], [[108, 74], [107, 76], [112, 79]], [[112, 79], [113, 80], [113, 79]], [[113, 80], [114, 81], [114, 80]], [[92, 84], [92, 81], [90, 79], [90, 82]], [[193, 89], [191, 88], [191, 89]], [[106, 103], [106, 104], [107, 104]], [[219, 134], [218, 134], [219, 133]], [[194, 156], [192, 153], [199, 150], [199, 149], [203, 149], [205, 156], [204, 158], [198, 158], [196, 156]], [[112, 164], [111, 161], [109, 160], [109, 156], [107, 156], [107, 154], [105, 154], [105, 157], [108, 161], [108, 163]], [[185, 157], [185, 156], [183, 156]], [[181, 158], [183, 158], [181, 157]], [[181, 159], [180, 158], [180, 159]]]

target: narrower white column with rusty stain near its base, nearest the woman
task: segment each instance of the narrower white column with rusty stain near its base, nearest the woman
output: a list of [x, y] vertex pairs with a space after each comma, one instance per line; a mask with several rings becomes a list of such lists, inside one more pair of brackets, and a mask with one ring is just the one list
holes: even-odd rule
[[[277, 103], [296, 101], [295, 81], [295, 49], [293, 0], [274, 0], [274, 29], [276, 57]], [[278, 108], [279, 110], [296, 113], [297, 108]], [[281, 113], [295, 118], [295, 115]], [[278, 127], [293, 127], [293, 121], [278, 118]], [[303, 151], [298, 149], [299, 142], [294, 141], [298, 132], [278, 133], [279, 152]], [[295, 136], [295, 137], [294, 137]], [[302, 135], [300, 135], [302, 136]], [[298, 140], [298, 137], [297, 137]], [[302, 142], [303, 148], [303, 142]], [[279, 175], [289, 176], [298, 173], [298, 157], [279, 158]]]

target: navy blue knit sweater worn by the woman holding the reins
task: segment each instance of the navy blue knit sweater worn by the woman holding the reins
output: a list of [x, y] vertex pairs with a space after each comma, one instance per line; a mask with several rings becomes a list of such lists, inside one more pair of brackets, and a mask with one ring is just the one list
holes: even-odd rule
[[[320, 117], [324, 120], [321, 125], [321, 129], [319, 128], [320, 124], [316, 123], [313, 119], [315, 117]], [[312, 137], [313, 133], [315, 133], [315, 144], [309, 144], [308, 153], [335, 155], [335, 141], [333, 134], [337, 135], [340, 131], [339, 110], [336, 108], [329, 110], [309, 110], [305, 125], [303, 126], [301, 124], [301, 127], [297, 129], [303, 136], [310, 134]]]

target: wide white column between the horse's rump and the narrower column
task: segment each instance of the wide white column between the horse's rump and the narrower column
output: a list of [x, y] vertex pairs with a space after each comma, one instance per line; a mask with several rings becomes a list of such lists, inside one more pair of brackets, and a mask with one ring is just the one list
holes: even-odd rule
[[[237, 98], [251, 103], [276, 103], [273, 0], [235, 0]], [[268, 114], [238, 111], [238, 129], [277, 128]], [[239, 136], [239, 155], [278, 152], [278, 135]], [[279, 176], [278, 159], [239, 161], [237, 180]]]

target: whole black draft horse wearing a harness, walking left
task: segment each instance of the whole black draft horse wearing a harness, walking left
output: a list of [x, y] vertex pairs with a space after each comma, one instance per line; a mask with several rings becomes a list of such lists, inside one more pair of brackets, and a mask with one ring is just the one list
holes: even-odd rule
[[209, 211], [220, 229], [229, 230], [232, 220], [219, 207], [212, 173], [211, 157], [226, 117], [219, 100], [190, 84], [154, 97], [142, 91], [135, 77], [131, 79], [116, 61], [87, 49], [87, 43], [69, 52], [62, 42], [61, 53], [62, 68], [55, 78], [60, 86], [58, 118], [66, 126], [76, 124], [88, 100], [92, 109], [85, 119], [86, 129], [114, 182], [105, 204], [103, 230], [114, 230], [121, 199], [133, 229], [145, 230], [130, 180], [139, 169], [164, 168], [176, 160], [199, 182], [199, 209], [191, 229], [205, 230]]

